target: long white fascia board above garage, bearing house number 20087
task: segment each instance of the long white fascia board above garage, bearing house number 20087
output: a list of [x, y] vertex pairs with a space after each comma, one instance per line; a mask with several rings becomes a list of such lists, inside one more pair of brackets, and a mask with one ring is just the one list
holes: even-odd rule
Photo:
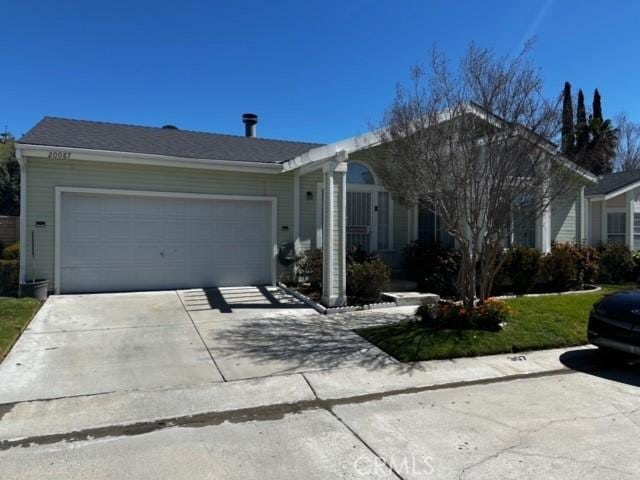
[[54, 147], [48, 145], [30, 145], [16, 143], [16, 151], [23, 157], [48, 158], [49, 152], [70, 153], [70, 160], [92, 162], [126, 163], [134, 165], [152, 165], [159, 167], [196, 168], [201, 170], [226, 170], [247, 173], [281, 173], [279, 163], [241, 162], [236, 160], [210, 160], [206, 158], [174, 157], [148, 153], [117, 152], [86, 148]]

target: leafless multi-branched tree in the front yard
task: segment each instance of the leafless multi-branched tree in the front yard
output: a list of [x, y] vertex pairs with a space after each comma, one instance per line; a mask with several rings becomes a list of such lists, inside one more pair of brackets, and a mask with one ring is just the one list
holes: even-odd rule
[[389, 156], [383, 181], [440, 215], [461, 251], [458, 291], [468, 308], [490, 295], [513, 215], [535, 221], [578, 181], [547, 140], [560, 128], [559, 99], [542, 95], [528, 50], [496, 57], [471, 44], [451, 69], [434, 48], [412, 87], [398, 87], [380, 129]]

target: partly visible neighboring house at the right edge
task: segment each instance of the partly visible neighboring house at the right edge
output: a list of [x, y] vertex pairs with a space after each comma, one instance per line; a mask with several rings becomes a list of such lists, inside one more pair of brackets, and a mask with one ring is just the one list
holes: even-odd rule
[[587, 187], [588, 243], [619, 243], [640, 250], [640, 170], [603, 175]]

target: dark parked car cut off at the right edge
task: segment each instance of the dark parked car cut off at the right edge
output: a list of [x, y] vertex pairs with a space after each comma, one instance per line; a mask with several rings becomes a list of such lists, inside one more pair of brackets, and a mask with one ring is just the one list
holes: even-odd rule
[[603, 350], [640, 355], [640, 290], [614, 293], [596, 303], [588, 337]]

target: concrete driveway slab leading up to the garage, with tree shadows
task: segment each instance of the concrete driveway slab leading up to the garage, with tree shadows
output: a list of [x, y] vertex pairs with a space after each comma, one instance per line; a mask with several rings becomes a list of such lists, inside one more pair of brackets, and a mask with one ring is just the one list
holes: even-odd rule
[[0, 364], [0, 404], [392, 361], [275, 287], [53, 296]]

